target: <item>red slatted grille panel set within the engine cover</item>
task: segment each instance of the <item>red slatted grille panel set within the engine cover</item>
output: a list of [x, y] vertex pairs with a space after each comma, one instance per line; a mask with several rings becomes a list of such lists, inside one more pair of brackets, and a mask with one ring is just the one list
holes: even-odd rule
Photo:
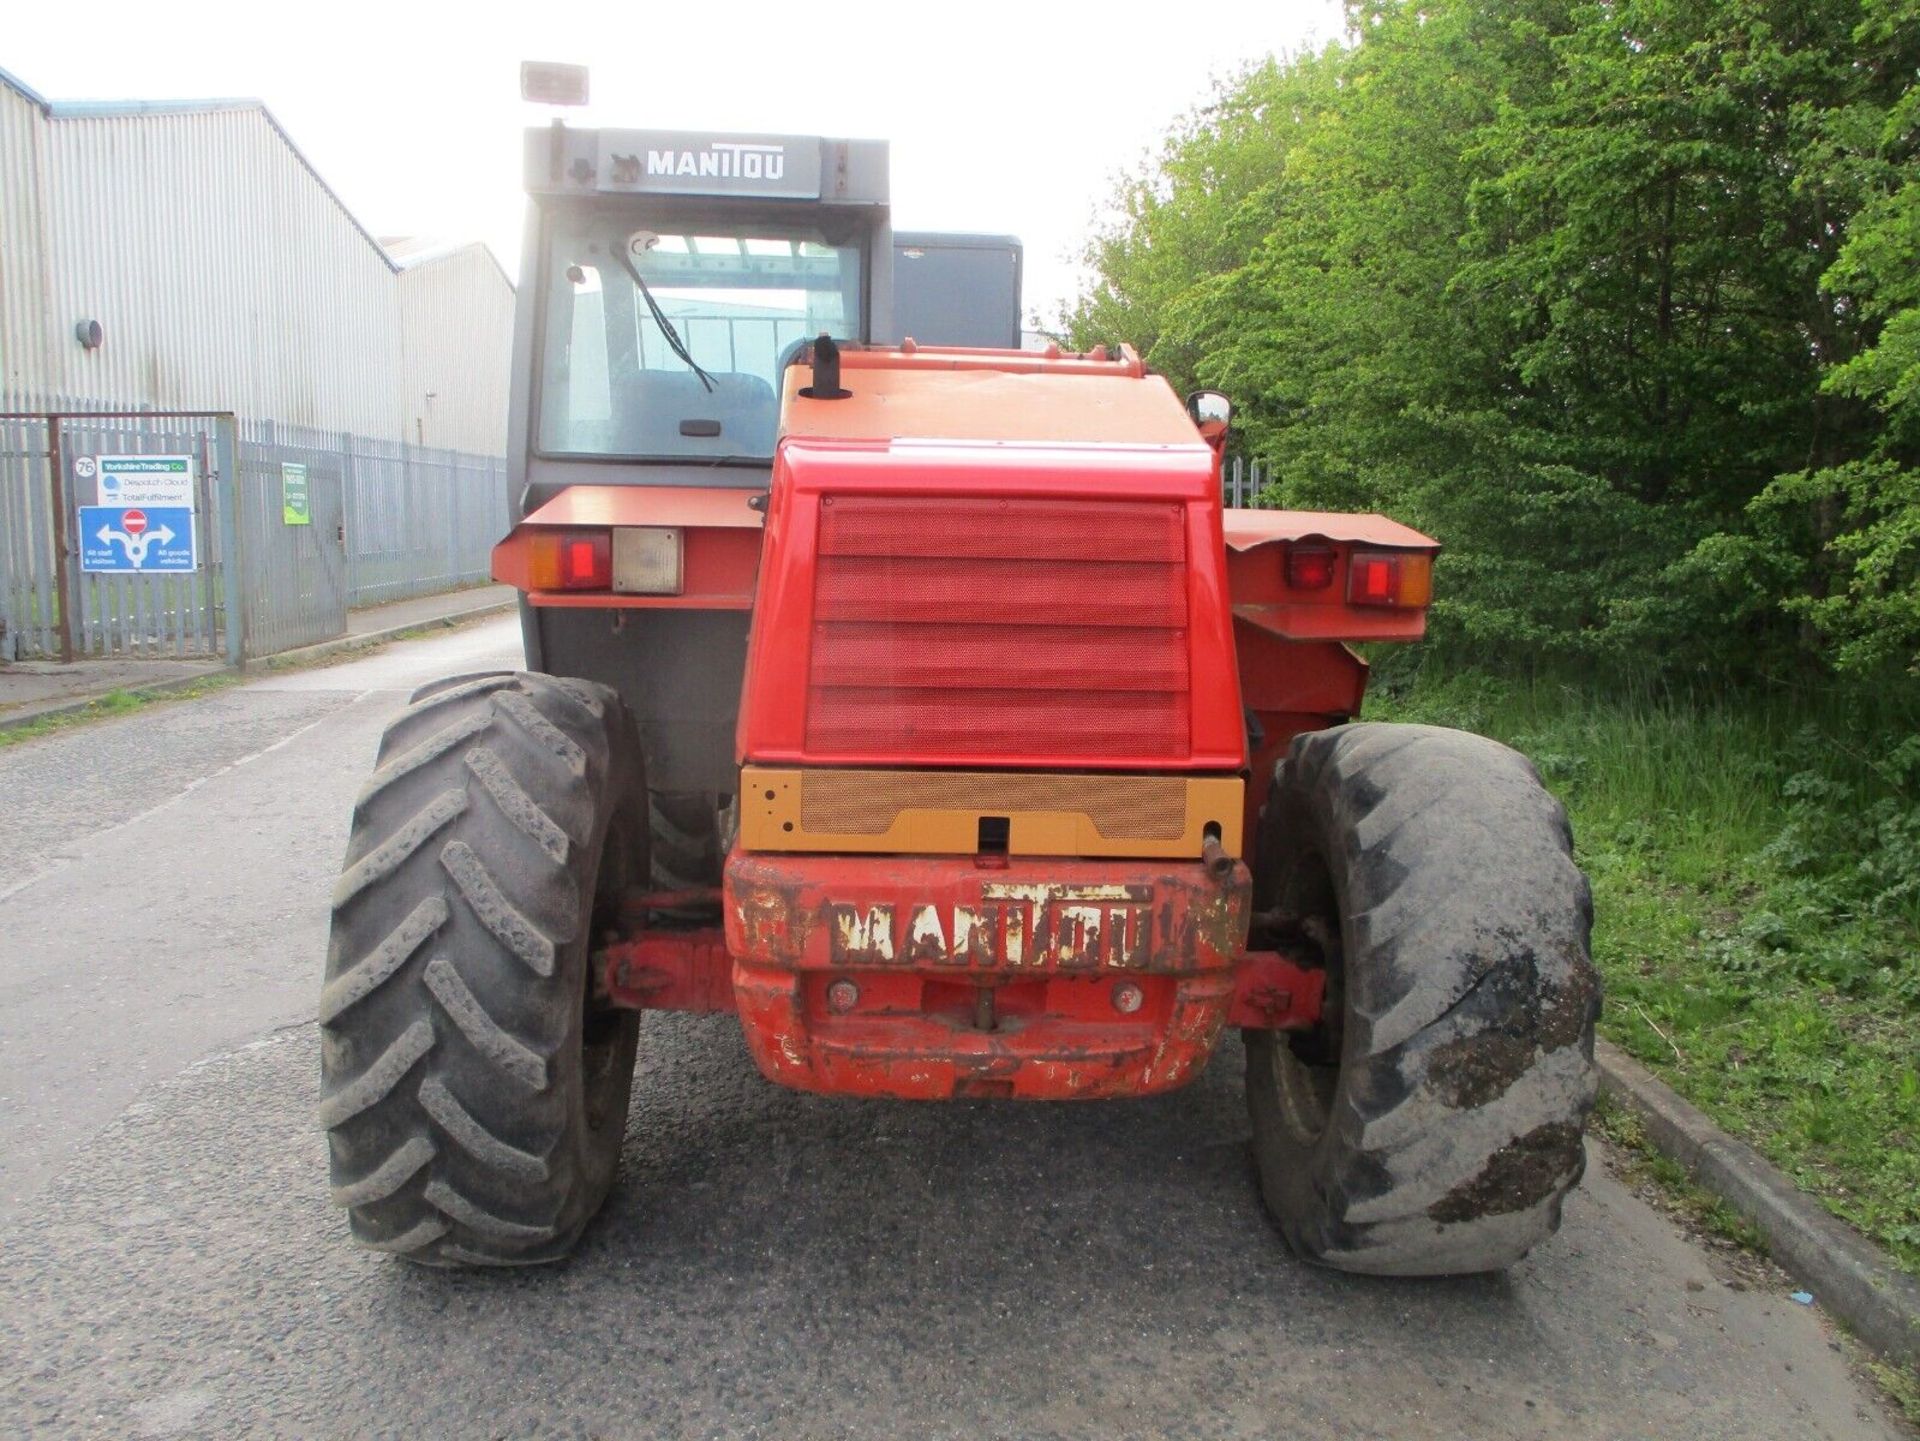
[[824, 497], [806, 748], [1188, 754], [1179, 503]]

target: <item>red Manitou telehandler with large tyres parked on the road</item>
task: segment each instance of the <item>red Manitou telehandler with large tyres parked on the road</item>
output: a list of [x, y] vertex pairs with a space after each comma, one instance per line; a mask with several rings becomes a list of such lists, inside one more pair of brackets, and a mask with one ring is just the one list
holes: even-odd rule
[[1549, 1236], [1599, 1005], [1567, 817], [1505, 746], [1356, 721], [1348, 643], [1421, 637], [1436, 543], [1223, 508], [1225, 397], [1125, 345], [895, 334], [881, 142], [555, 125], [526, 175], [526, 670], [422, 687], [353, 812], [355, 1240], [564, 1255], [647, 1009], [887, 1099], [1150, 1096], [1238, 1028], [1298, 1255]]

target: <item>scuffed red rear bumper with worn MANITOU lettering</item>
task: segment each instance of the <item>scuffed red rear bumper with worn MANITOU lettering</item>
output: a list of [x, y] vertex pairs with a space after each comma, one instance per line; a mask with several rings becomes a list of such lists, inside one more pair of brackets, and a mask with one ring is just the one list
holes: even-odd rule
[[799, 1090], [1146, 1096], [1213, 1053], [1248, 888], [1240, 863], [735, 850], [733, 1000], [760, 1071]]

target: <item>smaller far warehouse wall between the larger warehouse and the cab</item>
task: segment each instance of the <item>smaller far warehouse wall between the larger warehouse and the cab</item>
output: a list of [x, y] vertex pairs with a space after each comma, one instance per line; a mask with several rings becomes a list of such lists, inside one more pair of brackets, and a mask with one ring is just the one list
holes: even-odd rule
[[513, 286], [486, 246], [399, 272], [405, 439], [474, 455], [507, 451]]

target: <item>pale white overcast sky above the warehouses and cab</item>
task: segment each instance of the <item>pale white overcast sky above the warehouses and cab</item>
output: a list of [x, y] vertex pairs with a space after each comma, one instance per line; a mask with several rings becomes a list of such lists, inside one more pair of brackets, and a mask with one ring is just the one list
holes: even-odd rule
[[1050, 319], [1114, 178], [1215, 77], [1340, 35], [1336, 0], [764, 4], [0, 0], [50, 100], [250, 96], [376, 234], [478, 238], [516, 274], [520, 59], [593, 73], [570, 123], [877, 136], [900, 228], [1012, 232]]

